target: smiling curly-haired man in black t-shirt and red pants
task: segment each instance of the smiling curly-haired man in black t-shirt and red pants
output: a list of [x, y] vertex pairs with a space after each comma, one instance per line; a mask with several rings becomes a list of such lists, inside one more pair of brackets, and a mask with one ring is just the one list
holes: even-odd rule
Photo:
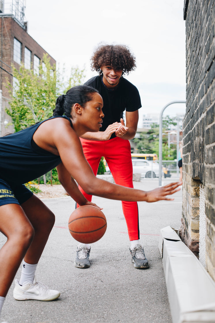
[[[116, 184], [133, 187], [130, 139], [133, 139], [138, 123], [141, 99], [138, 89], [123, 78], [134, 70], [135, 57], [129, 48], [122, 45], [100, 45], [91, 58], [92, 70], [99, 75], [89, 79], [85, 85], [99, 91], [103, 98], [103, 124], [98, 132], [87, 132], [81, 139], [84, 155], [97, 174], [103, 156], [108, 163]], [[126, 125], [122, 119], [125, 111]], [[92, 195], [80, 191], [91, 201]], [[129, 239], [130, 253], [135, 268], [149, 267], [149, 262], [140, 243], [138, 206], [136, 202], [122, 201]], [[74, 265], [78, 268], [90, 266], [90, 245], [80, 244]]]

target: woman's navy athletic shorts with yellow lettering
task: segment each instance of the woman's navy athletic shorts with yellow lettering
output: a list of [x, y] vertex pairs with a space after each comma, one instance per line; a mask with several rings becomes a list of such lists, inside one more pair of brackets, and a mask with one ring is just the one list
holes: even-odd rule
[[5, 204], [22, 204], [26, 202], [33, 193], [23, 184], [10, 186], [0, 179], [0, 206]]

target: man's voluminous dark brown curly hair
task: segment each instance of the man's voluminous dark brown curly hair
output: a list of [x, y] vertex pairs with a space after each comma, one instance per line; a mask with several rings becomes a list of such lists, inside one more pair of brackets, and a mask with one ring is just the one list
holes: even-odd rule
[[91, 57], [91, 69], [101, 75], [102, 65], [110, 65], [115, 70], [122, 70], [122, 75], [128, 75], [136, 68], [135, 56], [128, 46], [100, 44]]

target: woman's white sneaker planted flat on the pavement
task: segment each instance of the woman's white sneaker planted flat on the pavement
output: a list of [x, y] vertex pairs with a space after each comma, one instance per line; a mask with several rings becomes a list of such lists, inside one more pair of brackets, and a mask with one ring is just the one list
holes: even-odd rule
[[36, 281], [34, 276], [33, 284], [19, 285], [19, 281], [15, 279], [14, 298], [18, 301], [26, 299], [36, 299], [38, 301], [52, 301], [60, 296], [60, 292], [48, 289], [43, 283]]

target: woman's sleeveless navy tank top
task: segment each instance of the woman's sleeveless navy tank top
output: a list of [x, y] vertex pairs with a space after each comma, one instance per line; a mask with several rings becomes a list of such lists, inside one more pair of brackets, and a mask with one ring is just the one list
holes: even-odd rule
[[[50, 119], [54, 118], [65, 118], [72, 127], [71, 120], [66, 116]], [[60, 164], [60, 156], [40, 148], [35, 142], [32, 146], [34, 132], [44, 121], [0, 138], [0, 178], [10, 184], [24, 184]]]

